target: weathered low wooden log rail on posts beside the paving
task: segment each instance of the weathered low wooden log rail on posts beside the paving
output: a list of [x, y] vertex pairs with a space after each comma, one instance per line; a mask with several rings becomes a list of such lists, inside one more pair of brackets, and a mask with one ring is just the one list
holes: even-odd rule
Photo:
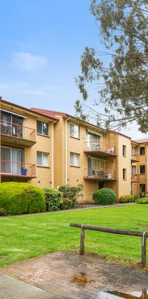
[[116, 233], [116, 234], [120, 234], [120, 235], [142, 237], [142, 259], [141, 259], [141, 262], [142, 262], [142, 268], [146, 267], [146, 259], [147, 259], [146, 258], [146, 248], [147, 248], [148, 232], [139, 231], [139, 230], [111, 228], [111, 227], [105, 227], [105, 226], [77, 224], [77, 223], [71, 223], [70, 226], [81, 228], [80, 251], [79, 251], [80, 255], [83, 255], [84, 250], [85, 250], [86, 229], [103, 231], [103, 232], [108, 232], [108, 233]]

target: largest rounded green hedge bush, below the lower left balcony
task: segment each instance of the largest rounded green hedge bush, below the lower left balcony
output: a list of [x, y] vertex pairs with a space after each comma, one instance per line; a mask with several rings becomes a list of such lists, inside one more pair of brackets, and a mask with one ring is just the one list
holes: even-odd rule
[[1, 183], [0, 208], [4, 209], [5, 215], [43, 212], [45, 196], [39, 187], [31, 184]]

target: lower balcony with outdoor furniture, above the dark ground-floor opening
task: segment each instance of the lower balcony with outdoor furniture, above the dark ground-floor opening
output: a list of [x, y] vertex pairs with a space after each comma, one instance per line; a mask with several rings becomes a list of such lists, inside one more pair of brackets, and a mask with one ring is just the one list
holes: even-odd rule
[[85, 168], [84, 169], [84, 179], [85, 180], [98, 180], [98, 181], [115, 181], [116, 172], [110, 169], [94, 169]]

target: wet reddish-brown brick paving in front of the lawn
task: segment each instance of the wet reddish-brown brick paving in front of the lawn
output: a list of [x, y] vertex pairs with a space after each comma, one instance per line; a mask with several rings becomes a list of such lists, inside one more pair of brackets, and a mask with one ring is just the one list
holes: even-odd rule
[[148, 289], [148, 272], [73, 253], [52, 253], [0, 271], [60, 298], [98, 299], [100, 291]]

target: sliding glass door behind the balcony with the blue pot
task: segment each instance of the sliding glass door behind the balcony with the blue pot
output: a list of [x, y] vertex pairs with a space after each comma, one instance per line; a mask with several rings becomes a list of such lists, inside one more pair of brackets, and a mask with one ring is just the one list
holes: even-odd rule
[[21, 174], [24, 150], [1, 147], [1, 173]]

